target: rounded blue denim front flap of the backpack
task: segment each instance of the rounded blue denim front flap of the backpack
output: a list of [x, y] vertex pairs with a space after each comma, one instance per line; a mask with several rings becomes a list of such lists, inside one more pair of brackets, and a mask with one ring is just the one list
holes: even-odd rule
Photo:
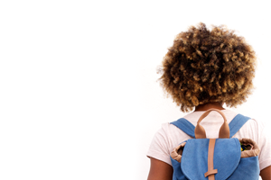
[[[208, 180], [208, 151], [210, 139], [188, 139], [182, 152], [181, 167], [188, 179]], [[213, 168], [218, 170], [216, 180], [224, 180], [238, 167], [241, 157], [239, 140], [216, 139]]]

